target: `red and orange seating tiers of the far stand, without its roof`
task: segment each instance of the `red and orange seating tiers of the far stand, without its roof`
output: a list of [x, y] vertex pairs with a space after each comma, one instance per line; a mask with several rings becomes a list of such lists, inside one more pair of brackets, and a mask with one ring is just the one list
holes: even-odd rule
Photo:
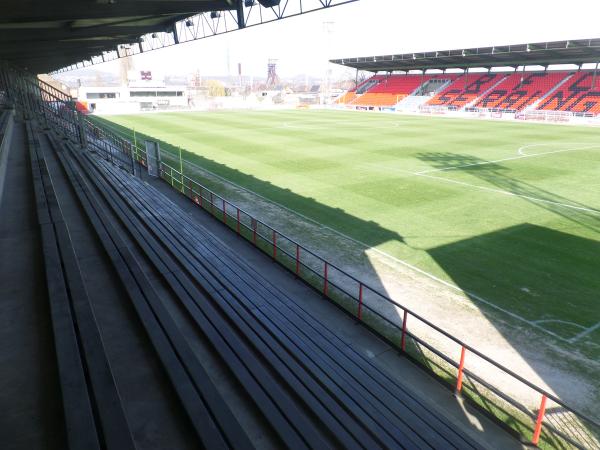
[[[435, 95], [424, 105], [443, 106], [451, 111], [475, 107], [515, 112], [533, 108], [597, 115], [600, 112], [600, 80], [592, 86], [594, 74], [594, 70], [581, 70], [445, 76], [375, 75], [358, 89], [370, 81], [377, 83], [360, 92], [358, 89], [348, 91], [336, 103], [350, 107], [395, 107], [401, 106], [400, 102], [407, 97], [419, 97], [428, 92]], [[427, 89], [431, 80], [440, 81], [438, 89]]]

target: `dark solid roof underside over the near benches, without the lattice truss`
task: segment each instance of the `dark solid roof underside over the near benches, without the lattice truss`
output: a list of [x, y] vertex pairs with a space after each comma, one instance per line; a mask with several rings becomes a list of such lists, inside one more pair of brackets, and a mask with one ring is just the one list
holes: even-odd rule
[[5, 0], [0, 59], [47, 72], [197, 12], [235, 9], [231, 0]]

